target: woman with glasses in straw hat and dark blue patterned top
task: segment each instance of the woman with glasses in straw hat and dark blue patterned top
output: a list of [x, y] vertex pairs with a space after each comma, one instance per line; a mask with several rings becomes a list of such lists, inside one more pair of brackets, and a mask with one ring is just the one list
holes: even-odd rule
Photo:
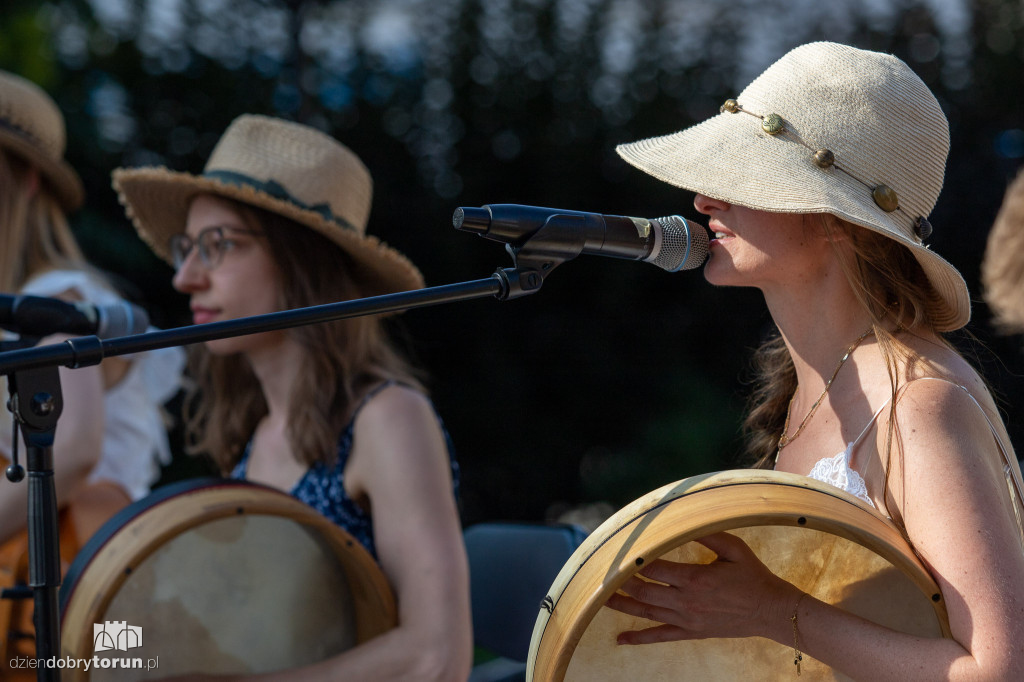
[[[121, 169], [114, 184], [142, 239], [174, 264], [196, 324], [423, 286], [404, 256], [365, 232], [366, 167], [306, 126], [242, 116], [202, 174]], [[458, 468], [380, 316], [209, 341], [190, 374], [190, 450], [339, 524], [377, 558], [397, 599], [395, 629], [259, 679], [464, 680]]]

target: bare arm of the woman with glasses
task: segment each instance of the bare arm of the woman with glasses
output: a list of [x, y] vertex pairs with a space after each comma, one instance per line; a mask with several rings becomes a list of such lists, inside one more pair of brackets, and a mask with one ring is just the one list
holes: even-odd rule
[[465, 682], [472, 665], [469, 568], [437, 417], [421, 393], [390, 386], [364, 406], [354, 428], [345, 484], [370, 499], [398, 626], [301, 669], [174, 680]]

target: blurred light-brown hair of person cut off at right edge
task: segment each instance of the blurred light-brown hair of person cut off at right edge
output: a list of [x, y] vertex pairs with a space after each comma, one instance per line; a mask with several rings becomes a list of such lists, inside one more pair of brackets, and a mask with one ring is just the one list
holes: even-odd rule
[[985, 301], [1007, 332], [1024, 332], [1024, 171], [1007, 189], [981, 263]]

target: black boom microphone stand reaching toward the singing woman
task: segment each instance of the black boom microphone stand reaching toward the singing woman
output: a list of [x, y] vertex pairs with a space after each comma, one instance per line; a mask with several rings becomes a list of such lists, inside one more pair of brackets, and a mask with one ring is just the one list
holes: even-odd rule
[[[348, 317], [395, 312], [440, 303], [467, 301], [486, 296], [505, 301], [540, 290], [556, 266], [583, 252], [585, 237], [578, 225], [550, 223], [519, 245], [506, 244], [513, 267], [497, 270], [484, 280], [440, 287], [327, 303], [307, 308], [270, 312], [238, 319], [191, 325], [176, 329], [102, 340], [77, 337], [62, 343], [0, 352], [0, 375], [7, 375], [8, 408], [14, 413], [28, 443], [29, 464], [29, 566], [35, 597], [36, 679], [59, 682], [60, 671], [45, 660], [60, 655], [57, 588], [60, 585], [60, 548], [57, 535], [57, 504], [53, 485], [53, 433], [60, 416], [59, 366], [78, 369], [98, 365], [104, 357], [138, 353], [170, 346], [203, 343], [248, 334], [259, 334], [303, 325]], [[28, 410], [26, 410], [28, 407]], [[14, 460], [8, 478], [19, 480]]]

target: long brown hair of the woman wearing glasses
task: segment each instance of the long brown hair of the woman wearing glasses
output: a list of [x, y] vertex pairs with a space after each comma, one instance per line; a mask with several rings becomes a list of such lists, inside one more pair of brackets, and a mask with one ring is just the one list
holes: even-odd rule
[[[266, 238], [281, 273], [282, 309], [359, 298], [358, 265], [309, 227], [223, 199], [248, 226]], [[301, 462], [332, 464], [337, 440], [362, 395], [382, 381], [423, 389], [418, 373], [389, 340], [379, 315], [296, 327], [288, 332], [303, 349], [288, 415], [288, 437]], [[194, 378], [184, 403], [186, 450], [205, 453], [228, 471], [267, 414], [260, 384], [244, 356], [190, 350]]]

